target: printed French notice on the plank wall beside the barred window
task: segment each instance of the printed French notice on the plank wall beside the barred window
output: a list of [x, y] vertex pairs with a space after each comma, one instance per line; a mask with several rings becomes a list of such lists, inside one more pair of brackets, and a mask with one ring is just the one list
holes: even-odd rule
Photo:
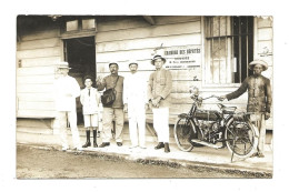
[[201, 65], [201, 46], [170, 47], [163, 49], [167, 69], [191, 69]]

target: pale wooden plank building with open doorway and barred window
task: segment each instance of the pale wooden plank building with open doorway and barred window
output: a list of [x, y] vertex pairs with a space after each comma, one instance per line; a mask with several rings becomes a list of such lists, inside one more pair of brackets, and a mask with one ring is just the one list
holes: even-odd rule
[[[247, 65], [253, 59], [269, 63], [263, 74], [272, 83], [272, 17], [18, 16], [18, 128], [57, 132], [52, 82], [59, 61], [69, 62], [70, 75], [83, 88], [83, 75], [108, 75], [110, 61], [118, 62], [119, 74], [126, 77], [129, 60], [137, 60], [148, 79], [155, 69], [150, 59], [159, 51], [173, 78], [173, 124], [179, 113], [190, 109], [190, 85], [197, 85], [202, 95], [229, 93], [250, 74]], [[203, 107], [216, 109], [217, 102], [208, 100]], [[227, 104], [246, 111], [246, 103], [243, 94]], [[79, 101], [78, 112], [81, 127]], [[147, 122], [152, 122], [151, 111]], [[272, 130], [272, 118], [268, 130]]]

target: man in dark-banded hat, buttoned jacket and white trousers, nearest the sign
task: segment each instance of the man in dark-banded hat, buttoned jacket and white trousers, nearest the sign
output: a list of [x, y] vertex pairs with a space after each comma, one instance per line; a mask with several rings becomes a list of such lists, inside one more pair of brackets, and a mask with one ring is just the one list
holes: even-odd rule
[[153, 128], [158, 134], [158, 145], [156, 150], [165, 148], [165, 152], [170, 152], [169, 148], [169, 105], [170, 92], [172, 88], [170, 71], [162, 68], [166, 59], [155, 55], [151, 64], [156, 71], [150, 74], [148, 84], [148, 100], [153, 113]]

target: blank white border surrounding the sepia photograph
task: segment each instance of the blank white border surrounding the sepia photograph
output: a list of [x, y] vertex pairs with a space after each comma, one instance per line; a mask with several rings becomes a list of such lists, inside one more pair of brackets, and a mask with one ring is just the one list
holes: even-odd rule
[[[0, 191], [275, 191], [288, 181], [288, 6], [286, 1], [101, 0], [16, 1], [1, 4], [1, 168]], [[273, 179], [183, 180], [16, 180], [16, 17], [17, 14], [193, 14], [273, 16]], [[286, 84], [285, 84], [286, 83]], [[287, 104], [288, 105], [288, 104]], [[4, 121], [3, 121], [4, 120]], [[113, 184], [112, 184], [113, 183]], [[113, 188], [112, 188], [113, 185]], [[285, 188], [283, 188], [285, 186]]]

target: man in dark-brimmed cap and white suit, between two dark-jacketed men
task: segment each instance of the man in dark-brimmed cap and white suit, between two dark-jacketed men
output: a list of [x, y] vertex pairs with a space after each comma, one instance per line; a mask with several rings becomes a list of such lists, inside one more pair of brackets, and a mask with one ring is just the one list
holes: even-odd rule
[[146, 80], [138, 72], [138, 63], [129, 63], [130, 74], [124, 79], [123, 103], [124, 112], [128, 112], [130, 148], [146, 149], [146, 109], [147, 90]]

